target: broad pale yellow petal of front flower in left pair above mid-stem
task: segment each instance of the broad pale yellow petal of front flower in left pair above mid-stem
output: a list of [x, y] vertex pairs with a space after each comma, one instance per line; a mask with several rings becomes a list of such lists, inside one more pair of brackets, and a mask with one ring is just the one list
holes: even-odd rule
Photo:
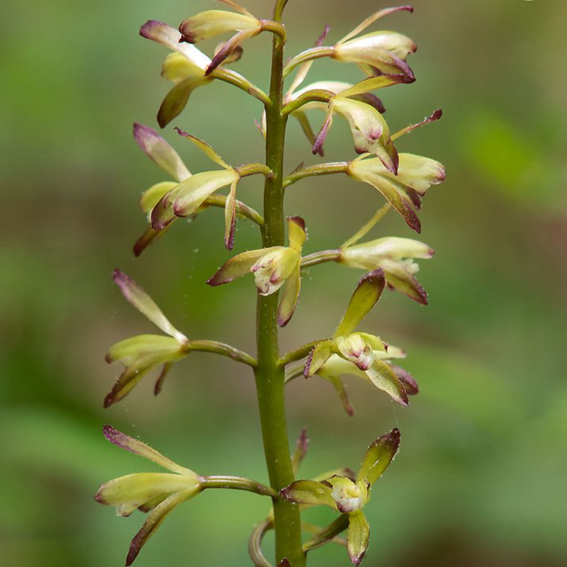
[[203, 172], [181, 181], [172, 199], [173, 212], [178, 217], [189, 217], [215, 191], [230, 186], [239, 180], [234, 170]]

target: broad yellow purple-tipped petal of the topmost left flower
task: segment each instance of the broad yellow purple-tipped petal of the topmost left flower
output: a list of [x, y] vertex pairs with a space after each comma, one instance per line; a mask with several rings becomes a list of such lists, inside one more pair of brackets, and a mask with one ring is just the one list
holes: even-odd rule
[[228, 31], [261, 30], [262, 26], [253, 16], [225, 10], [207, 10], [187, 18], [179, 26], [182, 40], [199, 43]]

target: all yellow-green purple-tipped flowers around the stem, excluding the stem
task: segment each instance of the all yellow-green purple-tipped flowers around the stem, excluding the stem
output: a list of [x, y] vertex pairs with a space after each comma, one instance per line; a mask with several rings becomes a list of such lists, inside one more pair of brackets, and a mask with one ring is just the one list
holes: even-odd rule
[[[264, 91], [226, 66], [240, 58], [241, 44], [245, 40], [262, 32], [285, 38], [286, 30], [280, 23], [254, 17], [234, 0], [220, 1], [235, 11], [210, 10], [198, 13], [182, 22], [179, 30], [157, 21], [146, 23], [140, 30], [143, 37], [171, 50], [164, 60], [162, 76], [174, 86], [159, 108], [157, 120], [162, 128], [179, 116], [193, 90], [215, 80], [245, 90], [264, 105], [270, 103], [269, 96]], [[298, 305], [301, 276], [305, 269], [322, 262], [337, 262], [369, 272], [359, 282], [332, 337], [305, 345], [286, 355], [281, 362], [286, 366], [300, 363], [286, 370], [287, 381], [301, 375], [305, 378], [317, 375], [330, 381], [349, 415], [352, 415], [353, 410], [342, 382], [344, 375], [364, 378], [401, 405], [408, 405], [408, 396], [418, 392], [415, 379], [395, 364], [395, 360], [405, 357], [405, 352], [380, 337], [361, 332], [357, 328], [378, 303], [386, 286], [405, 293], [418, 303], [427, 304], [427, 293], [415, 277], [418, 270], [415, 260], [431, 258], [433, 250], [422, 242], [407, 238], [383, 237], [368, 242], [360, 241], [391, 208], [404, 218], [412, 230], [420, 232], [417, 211], [421, 208], [422, 198], [432, 185], [441, 183], [445, 178], [442, 164], [427, 157], [398, 153], [394, 144], [395, 140], [420, 125], [438, 120], [441, 112], [437, 111], [421, 123], [392, 134], [383, 118], [383, 103], [373, 94], [378, 89], [415, 81], [414, 73], [408, 65], [408, 56], [415, 52], [417, 46], [410, 38], [391, 31], [374, 31], [361, 35], [379, 18], [396, 11], [412, 9], [410, 6], [401, 6], [378, 11], [335, 45], [323, 45], [328, 33], [328, 28], [325, 29], [315, 47], [293, 57], [283, 72], [287, 76], [296, 70], [296, 76], [283, 98], [283, 114], [299, 121], [313, 146], [313, 153], [323, 155], [333, 119], [341, 116], [349, 124], [354, 150], [358, 154], [351, 162], [300, 167], [285, 179], [284, 185], [290, 186], [308, 176], [343, 173], [355, 181], [374, 187], [386, 198], [386, 205], [341, 247], [307, 256], [303, 255], [307, 240], [305, 222], [299, 217], [288, 218], [288, 246], [237, 254], [208, 281], [211, 286], [219, 286], [252, 274], [260, 295], [269, 296], [281, 290], [278, 322], [283, 327], [290, 322]], [[218, 45], [212, 59], [194, 45], [227, 32], [235, 32], [235, 35]], [[321, 57], [354, 63], [366, 78], [357, 84], [330, 81], [300, 88], [313, 61]], [[308, 116], [313, 109], [325, 112], [318, 134], [311, 127]], [[259, 123], [259, 128], [265, 134], [265, 119]], [[209, 157], [218, 169], [191, 174], [181, 157], [155, 130], [140, 124], [134, 126], [135, 140], [141, 150], [172, 178], [172, 181], [155, 184], [142, 194], [140, 207], [147, 215], [149, 225], [135, 244], [135, 254], [141, 254], [147, 246], [164, 235], [176, 219], [201, 214], [210, 207], [225, 209], [225, 245], [232, 249], [238, 218], [247, 218], [260, 227], [264, 225], [262, 215], [237, 200], [238, 184], [246, 176], [260, 174], [269, 177], [272, 172], [264, 164], [232, 167], [206, 142], [179, 128], [176, 130], [181, 137]], [[228, 195], [219, 195], [218, 191], [225, 187], [230, 188]], [[160, 371], [155, 393], [159, 393], [172, 366], [191, 352], [215, 352], [243, 364], [256, 366], [257, 361], [253, 357], [226, 344], [188, 339], [176, 330], [135, 281], [118, 270], [114, 279], [125, 298], [166, 336], [139, 335], [111, 347], [106, 360], [108, 363], [119, 362], [124, 370], [111, 393], [106, 396], [106, 407], [122, 400], [142, 378], [157, 368]], [[323, 478], [296, 481], [276, 494], [247, 479], [199, 476], [111, 427], [105, 428], [105, 434], [119, 447], [144, 456], [171, 471], [118, 478], [103, 485], [96, 495], [97, 501], [117, 506], [119, 515], [130, 515], [134, 510], [150, 512], [144, 527], [130, 547], [128, 565], [134, 561], [142, 545], [155, 532], [164, 516], [176, 505], [193, 498], [205, 488], [237, 488], [271, 498], [283, 498], [302, 506], [332, 507], [341, 514], [339, 523], [335, 522], [331, 529], [315, 533], [313, 539], [305, 544], [305, 551], [315, 549], [327, 541], [337, 540], [337, 534], [348, 527], [344, 543], [352, 562], [359, 565], [369, 543], [369, 525], [361, 510], [369, 501], [372, 485], [391, 463], [400, 442], [398, 430], [376, 439], [364, 456], [357, 475], [342, 469], [337, 474]], [[299, 444], [300, 447], [303, 445]], [[304, 452], [303, 450], [301, 458]], [[296, 459], [296, 464], [301, 458]], [[261, 537], [255, 546], [251, 546], [253, 558], [262, 556], [260, 542]], [[262, 561], [265, 559], [258, 558], [255, 563], [266, 564]]]

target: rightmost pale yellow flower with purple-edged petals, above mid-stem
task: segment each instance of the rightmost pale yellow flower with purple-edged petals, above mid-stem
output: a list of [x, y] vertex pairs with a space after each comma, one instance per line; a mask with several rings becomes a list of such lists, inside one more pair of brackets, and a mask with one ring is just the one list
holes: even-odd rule
[[421, 208], [422, 197], [430, 186], [444, 181], [443, 165], [428, 157], [400, 154], [398, 174], [395, 175], [380, 159], [365, 158], [362, 156], [351, 162], [349, 176], [378, 189], [410, 228], [421, 232], [420, 219], [414, 209]]

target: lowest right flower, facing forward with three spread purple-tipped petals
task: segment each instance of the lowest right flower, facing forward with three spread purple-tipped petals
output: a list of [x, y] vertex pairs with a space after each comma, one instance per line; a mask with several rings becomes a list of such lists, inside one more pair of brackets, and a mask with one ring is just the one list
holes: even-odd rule
[[332, 476], [324, 481], [295, 481], [280, 491], [282, 498], [307, 506], [328, 506], [348, 517], [347, 550], [354, 565], [360, 565], [370, 541], [370, 527], [363, 508], [371, 489], [393, 461], [400, 447], [400, 431], [378, 437], [366, 451], [353, 480]]

